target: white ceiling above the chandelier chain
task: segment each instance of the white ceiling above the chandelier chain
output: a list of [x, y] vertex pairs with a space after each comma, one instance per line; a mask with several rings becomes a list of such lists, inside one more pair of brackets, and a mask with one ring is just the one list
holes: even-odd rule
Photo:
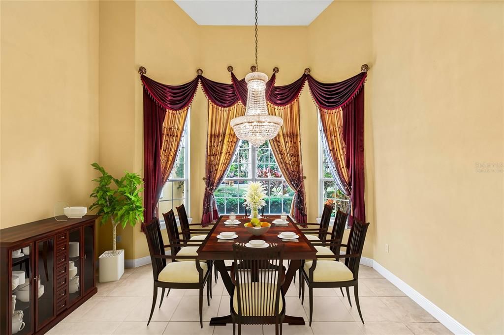
[[[253, 26], [255, 0], [174, 0], [197, 24]], [[259, 0], [259, 25], [307, 26], [333, 0]]]

